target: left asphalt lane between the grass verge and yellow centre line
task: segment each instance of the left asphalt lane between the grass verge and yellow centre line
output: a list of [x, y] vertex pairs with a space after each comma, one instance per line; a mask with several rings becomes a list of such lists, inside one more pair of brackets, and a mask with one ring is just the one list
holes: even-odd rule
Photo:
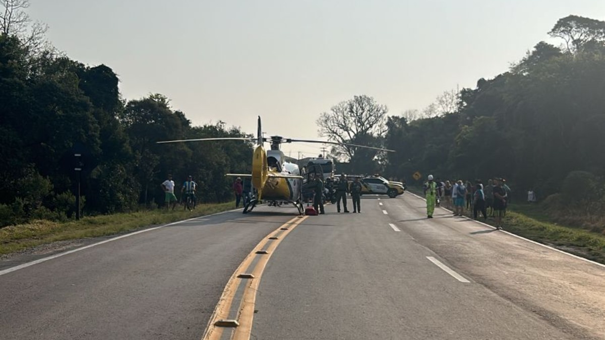
[[295, 211], [257, 210], [172, 224], [0, 275], [0, 339], [200, 339], [231, 273]]

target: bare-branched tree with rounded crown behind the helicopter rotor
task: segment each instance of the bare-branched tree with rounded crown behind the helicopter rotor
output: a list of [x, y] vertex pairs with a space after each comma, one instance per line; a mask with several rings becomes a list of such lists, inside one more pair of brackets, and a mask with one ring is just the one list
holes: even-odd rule
[[[329, 113], [322, 113], [316, 121], [319, 126], [319, 136], [338, 143], [380, 146], [382, 137], [387, 131], [388, 109], [369, 96], [354, 96], [353, 99], [332, 106]], [[355, 146], [339, 145], [333, 148], [333, 154], [343, 156], [352, 163], [364, 163], [364, 171], [373, 168], [372, 163], [376, 151], [363, 150]], [[359, 155], [359, 161], [355, 155]], [[360, 165], [361, 166], [361, 165]], [[370, 169], [369, 171], [373, 171]]]

